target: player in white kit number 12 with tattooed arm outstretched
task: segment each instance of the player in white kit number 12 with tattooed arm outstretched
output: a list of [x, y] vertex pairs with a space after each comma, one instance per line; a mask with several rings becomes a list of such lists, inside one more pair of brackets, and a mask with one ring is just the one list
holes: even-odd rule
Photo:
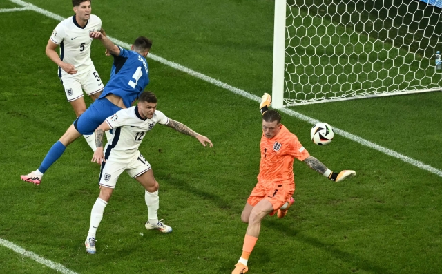
[[[104, 208], [112, 196], [118, 177], [123, 171], [135, 178], [146, 189], [144, 198], [148, 209], [146, 229], [157, 229], [162, 233], [172, 232], [172, 228], [158, 220], [157, 211], [160, 204], [158, 197], [158, 182], [153, 177], [151, 165], [142, 156], [138, 147], [146, 133], [159, 123], [175, 129], [182, 134], [193, 136], [204, 145], [212, 142], [206, 136], [197, 134], [180, 122], [167, 118], [162, 112], [156, 110], [157, 97], [152, 92], [143, 92], [138, 98], [137, 106], [119, 110], [108, 117], [97, 130], [95, 140], [97, 150], [94, 152], [92, 162], [102, 165], [99, 174], [99, 196], [90, 213], [90, 226], [86, 238], [86, 252], [95, 254], [95, 234], [103, 218]], [[108, 141], [103, 149], [103, 134], [114, 129], [113, 139]]]

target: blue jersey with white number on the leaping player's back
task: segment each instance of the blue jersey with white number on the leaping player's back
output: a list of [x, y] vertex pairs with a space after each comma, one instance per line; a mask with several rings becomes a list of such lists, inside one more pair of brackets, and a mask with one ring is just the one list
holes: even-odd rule
[[102, 95], [115, 94], [123, 99], [126, 107], [131, 107], [149, 83], [149, 70], [146, 59], [131, 50], [119, 48], [119, 56], [113, 56], [111, 80], [108, 81]]

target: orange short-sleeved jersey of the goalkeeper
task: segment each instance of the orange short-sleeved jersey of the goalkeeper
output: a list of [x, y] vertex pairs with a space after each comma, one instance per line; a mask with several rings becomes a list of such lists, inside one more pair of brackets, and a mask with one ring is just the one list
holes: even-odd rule
[[280, 131], [273, 138], [267, 138], [264, 134], [261, 137], [258, 182], [269, 188], [273, 187], [276, 182], [294, 184], [293, 162], [295, 158], [302, 161], [310, 156], [295, 134], [292, 134], [284, 125], [280, 127]]

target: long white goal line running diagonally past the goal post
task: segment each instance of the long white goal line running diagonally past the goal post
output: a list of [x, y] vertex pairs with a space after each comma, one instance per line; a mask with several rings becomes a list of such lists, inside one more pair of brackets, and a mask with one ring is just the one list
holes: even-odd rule
[[[28, 8], [28, 10], [34, 10], [36, 12], [44, 14], [47, 17], [50, 17], [52, 19], [56, 19], [58, 21], [64, 20], [63, 17], [61, 17], [57, 14], [54, 14], [52, 12], [49, 12], [48, 10], [44, 10], [42, 8], [34, 6], [31, 3], [27, 3], [27, 2], [21, 1], [21, 0], [10, 0], [10, 1], [17, 3], [21, 6], [24, 6], [24, 7]], [[108, 36], [108, 37], [114, 43], [116, 43], [118, 45], [122, 45], [124, 48], [131, 48], [131, 45], [128, 43], [124, 43], [123, 41], [119, 41], [118, 39], [112, 38], [110, 36]], [[226, 83], [222, 83], [221, 81], [218, 81], [214, 78], [206, 76], [200, 72], [195, 72], [195, 70], [191, 70], [191, 69], [189, 69], [189, 67], [184, 67], [183, 65], [180, 65], [178, 63], [168, 61], [168, 60], [166, 60], [160, 56], [157, 56], [155, 54], [152, 54], [152, 53], [148, 54], [148, 58], [150, 58], [154, 61], [157, 61], [159, 63], [162, 63], [164, 65], [169, 65], [170, 67], [173, 67], [176, 70], [186, 72], [187, 74], [195, 76], [196, 78], [200, 78], [201, 80], [204, 80], [204, 81], [209, 82], [213, 85], [216, 85], [217, 87], [222, 87], [223, 89], [227, 89], [235, 94], [238, 94], [238, 95], [243, 96], [245, 98], [249, 98], [250, 100], [260, 102], [260, 97], [254, 95], [254, 94], [250, 94], [249, 92], [246, 92], [242, 89], [238, 89], [237, 87], [232, 87], [231, 85], [227, 85]], [[295, 112], [292, 109], [282, 108], [282, 109], [278, 109], [278, 110], [280, 112], [283, 112], [283, 113], [289, 115], [289, 116], [296, 117], [300, 120], [304, 120], [304, 121], [311, 123], [311, 124], [315, 124], [315, 123], [319, 122], [318, 120], [316, 120], [314, 118], [311, 118], [309, 116], [305, 116], [304, 114], [300, 114], [299, 112]], [[332, 125], [332, 127], [333, 127], [333, 125]], [[431, 167], [430, 165], [425, 165], [423, 162], [419, 162], [418, 160], [414, 160], [413, 158], [402, 155], [396, 151], [392, 151], [391, 149], [387, 149], [386, 147], [381, 147], [380, 145], [376, 145], [375, 143], [372, 143], [369, 140], [365, 140], [365, 139], [358, 137], [354, 134], [348, 133], [347, 131], [343, 131], [342, 129], [338, 129], [338, 128], [334, 127], [334, 131], [336, 132], [336, 134], [339, 134], [341, 136], [344, 136], [345, 138], [353, 140], [356, 143], [359, 143], [359, 144], [364, 145], [366, 147], [370, 147], [372, 149], [376, 149], [377, 151], [381, 151], [383, 154], [387, 154], [387, 155], [392, 156], [394, 158], [398, 158], [400, 160], [403, 160], [403, 162], [407, 162], [410, 165], [414, 165], [415, 167], [419, 167], [419, 169], [429, 171], [431, 173], [436, 174], [437, 176], [442, 177], [442, 170], [440, 170], [440, 169], [436, 169], [434, 167]]]

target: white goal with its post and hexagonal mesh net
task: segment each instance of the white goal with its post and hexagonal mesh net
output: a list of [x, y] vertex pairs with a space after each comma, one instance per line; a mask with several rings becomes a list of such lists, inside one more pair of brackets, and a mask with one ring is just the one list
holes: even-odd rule
[[416, 0], [275, 0], [272, 107], [442, 91], [442, 10]]

